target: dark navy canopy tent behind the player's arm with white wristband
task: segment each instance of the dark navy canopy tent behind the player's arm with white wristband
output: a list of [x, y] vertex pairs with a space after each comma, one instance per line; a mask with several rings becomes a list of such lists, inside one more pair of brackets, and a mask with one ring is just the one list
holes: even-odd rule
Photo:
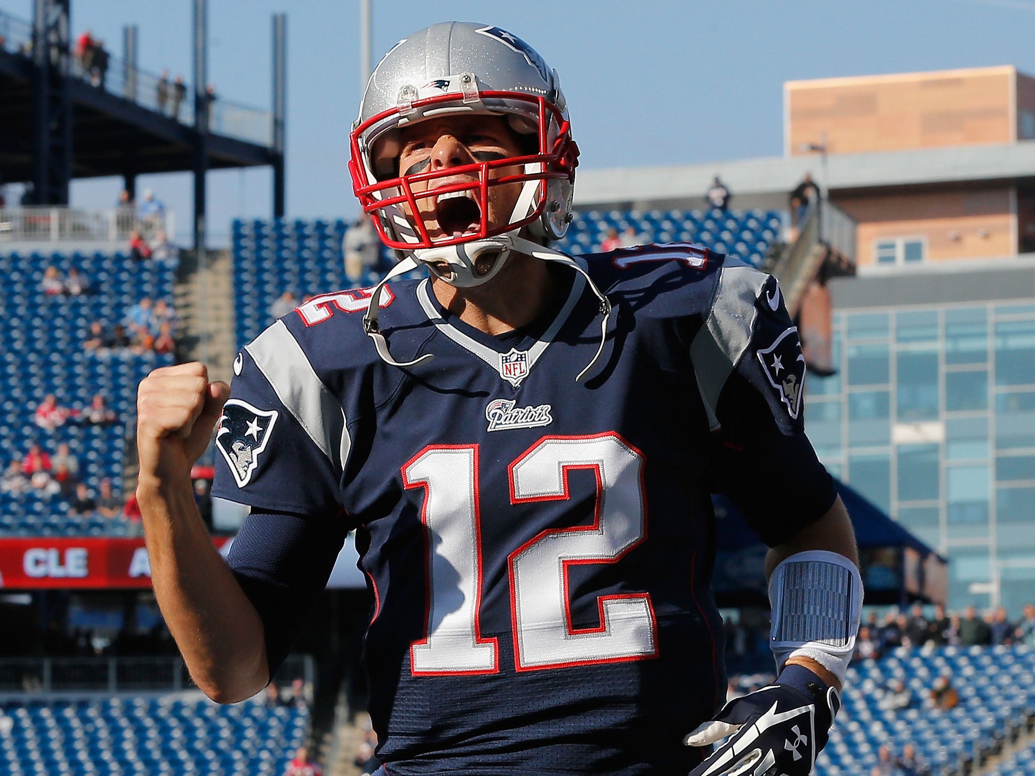
[[[852, 517], [866, 604], [945, 603], [946, 561], [856, 490], [835, 479]], [[716, 557], [712, 590], [719, 606], [769, 606], [767, 547], [722, 496], [712, 497]]]

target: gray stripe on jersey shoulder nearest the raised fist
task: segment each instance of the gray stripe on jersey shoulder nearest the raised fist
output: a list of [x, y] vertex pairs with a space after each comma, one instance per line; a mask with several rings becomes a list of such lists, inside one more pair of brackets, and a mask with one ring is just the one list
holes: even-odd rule
[[345, 411], [317, 377], [284, 321], [270, 326], [244, 350], [313, 443], [339, 471], [344, 470], [352, 447]]

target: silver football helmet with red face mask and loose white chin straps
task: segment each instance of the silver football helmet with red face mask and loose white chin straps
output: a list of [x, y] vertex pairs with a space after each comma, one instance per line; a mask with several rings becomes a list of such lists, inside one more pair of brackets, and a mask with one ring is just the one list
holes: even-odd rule
[[[444, 115], [506, 117], [510, 129], [527, 143], [519, 156], [475, 157], [472, 163], [440, 170], [400, 170], [401, 129]], [[388, 353], [377, 319], [381, 289], [392, 277], [424, 265], [452, 286], [480, 286], [500, 271], [511, 252], [556, 261], [586, 274], [570, 257], [542, 244], [563, 237], [571, 222], [579, 148], [571, 139], [557, 71], [515, 35], [493, 25], [443, 22], [401, 40], [371, 74], [350, 143], [353, 190], [381, 240], [401, 255], [375, 288], [363, 319], [388, 363], [412, 366], [431, 357], [397, 362]], [[490, 187], [513, 183], [521, 183], [513, 211], [505, 223], [491, 225]], [[455, 215], [460, 209], [462, 217], [450, 220], [464, 229], [430, 232], [420, 204], [439, 221], [449, 215], [444, 211]], [[495, 261], [481, 274], [476, 262], [483, 255]], [[601, 311], [610, 312], [610, 302], [592, 280], [589, 285]]]

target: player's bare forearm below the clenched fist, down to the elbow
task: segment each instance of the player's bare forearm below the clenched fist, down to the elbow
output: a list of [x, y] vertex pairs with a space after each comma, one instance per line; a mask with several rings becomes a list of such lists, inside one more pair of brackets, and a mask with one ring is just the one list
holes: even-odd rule
[[268, 681], [262, 621], [212, 544], [189, 479], [142, 479], [138, 498], [158, 606], [190, 676], [218, 703]]

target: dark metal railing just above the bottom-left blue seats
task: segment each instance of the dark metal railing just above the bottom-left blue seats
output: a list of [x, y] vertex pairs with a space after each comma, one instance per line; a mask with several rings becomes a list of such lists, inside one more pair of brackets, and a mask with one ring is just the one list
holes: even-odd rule
[[[312, 684], [309, 655], [290, 655], [274, 681]], [[0, 658], [0, 693], [178, 692], [194, 682], [179, 656]]]

